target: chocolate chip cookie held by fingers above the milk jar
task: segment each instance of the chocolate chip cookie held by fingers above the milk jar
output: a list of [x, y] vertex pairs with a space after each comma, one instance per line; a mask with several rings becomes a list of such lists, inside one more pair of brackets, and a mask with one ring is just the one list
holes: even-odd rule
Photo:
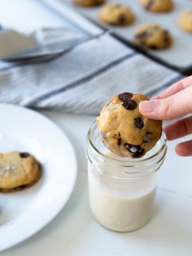
[[162, 135], [162, 121], [143, 117], [139, 102], [145, 95], [124, 92], [109, 99], [97, 117], [101, 140], [119, 156], [139, 158], [156, 145]]

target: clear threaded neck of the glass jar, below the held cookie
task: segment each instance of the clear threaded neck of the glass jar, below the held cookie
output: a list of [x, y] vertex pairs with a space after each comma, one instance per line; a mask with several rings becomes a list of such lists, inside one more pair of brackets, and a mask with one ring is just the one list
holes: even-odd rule
[[119, 157], [109, 153], [100, 139], [96, 122], [90, 126], [86, 141], [86, 154], [90, 164], [99, 172], [116, 178], [134, 179], [141, 175], [151, 175], [162, 166], [166, 157], [164, 131], [155, 147], [141, 158]]

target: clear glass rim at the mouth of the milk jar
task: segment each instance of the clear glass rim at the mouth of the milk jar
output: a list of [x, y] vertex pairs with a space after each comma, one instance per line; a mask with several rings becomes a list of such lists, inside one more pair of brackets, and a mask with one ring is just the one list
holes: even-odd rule
[[[91, 139], [91, 132], [93, 131], [93, 129], [97, 129], [96, 121], [94, 121], [91, 124], [91, 126], [90, 126], [90, 128], [87, 132], [87, 141], [89, 142], [91, 147], [94, 149], [96, 154], [98, 156], [102, 156], [105, 160], [109, 159], [110, 161], [117, 161], [117, 159], [103, 154], [97, 147], [95, 147], [95, 145], [94, 145], [94, 143], [92, 142], [92, 139]], [[150, 155], [146, 158], [144, 158], [145, 156], [143, 156], [141, 158], [130, 158], [130, 161], [127, 160], [127, 158], [126, 158], [126, 160], [118, 159], [118, 162], [121, 163], [122, 165], [128, 165], [128, 164], [133, 165], [134, 163], [138, 164], [138, 163], [143, 163], [143, 162], [150, 161], [151, 159], [153, 159], [157, 155], [159, 155], [164, 150], [164, 148], [166, 147], [166, 134], [165, 134], [164, 130], [162, 130], [162, 135], [161, 135], [161, 138], [159, 140], [163, 140], [162, 147], [160, 149], [158, 149], [154, 154], [152, 154], [152, 155]]]

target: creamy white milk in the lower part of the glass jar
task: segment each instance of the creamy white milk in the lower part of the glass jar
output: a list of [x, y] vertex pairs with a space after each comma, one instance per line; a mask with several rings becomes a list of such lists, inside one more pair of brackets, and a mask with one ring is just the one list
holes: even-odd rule
[[[90, 208], [95, 219], [104, 227], [114, 231], [131, 231], [140, 228], [153, 212], [156, 185], [151, 179], [145, 182], [130, 180], [125, 184], [114, 184], [105, 177], [98, 180], [89, 166]], [[127, 182], [127, 181], [126, 181]]]

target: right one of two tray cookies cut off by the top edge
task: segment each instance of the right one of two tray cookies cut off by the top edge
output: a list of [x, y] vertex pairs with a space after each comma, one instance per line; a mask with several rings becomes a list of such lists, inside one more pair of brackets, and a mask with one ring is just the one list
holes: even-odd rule
[[171, 0], [140, 0], [140, 3], [150, 12], [170, 12], [173, 9]]

